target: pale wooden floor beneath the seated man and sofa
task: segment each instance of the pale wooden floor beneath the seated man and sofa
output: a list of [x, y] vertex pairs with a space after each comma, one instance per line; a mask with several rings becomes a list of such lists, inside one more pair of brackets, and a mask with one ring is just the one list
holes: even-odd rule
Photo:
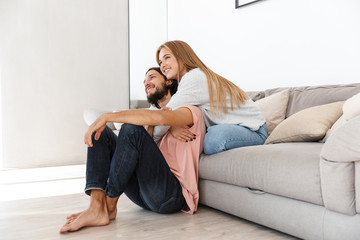
[[[80, 167], [83, 169], [83, 167]], [[46, 181], [48, 187], [59, 186], [61, 171], [56, 169], [49, 174], [52, 179]], [[67, 175], [69, 171], [64, 170]], [[44, 172], [49, 172], [48, 169]], [[5, 173], [5, 174], [4, 174]], [[66, 175], [66, 173], [64, 173]], [[68, 214], [87, 208], [89, 198], [72, 192], [77, 184], [68, 184], [72, 180], [84, 182], [82, 177], [70, 174], [71, 179], [64, 179], [64, 189], [46, 189], [36, 187], [44, 181], [34, 180], [32, 183], [9, 182], [9, 172], [0, 172], [0, 239], [296, 239], [289, 235], [268, 229], [246, 220], [222, 213], [206, 206], [200, 206], [194, 215], [176, 213], [161, 215], [143, 210], [134, 205], [126, 196], [122, 196], [118, 204], [118, 217], [104, 227], [89, 227], [78, 232], [59, 234]], [[34, 177], [34, 176], [33, 176]], [[4, 179], [5, 178], [5, 179]], [[31, 178], [31, 177], [30, 177]], [[54, 179], [56, 178], [56, 179]], [[25, 177], [26, 179], [26, 177]], [[67, 182], [66, 182], [67, 181]], [[54, 184], [51, 184], [54, 182]], [[24, 192], [38, 192], [41, 197], [31, 195], [25, 199], [19, 195], [21, 185], [26, 185]], [[30, 186], [33, 184], [34, 186]], [[66, 185], [68, 184], [68, 185]], [[43, 185], [41, 185], [43, 186]], [[29, 191], [29, 188], [33, 191]], [[14, 193], [14, 189], [17, 193]], [[7, 191], [7, 192], [6, 192]], [[13, 192], [11, 192], [13, 191]], [[56, 193], [57, 196], [44, 196], [44, 192]], [[60, 195], [60, 193], [62, 195]], [[16, 195], [17, 200], [6, 195]], [[54, 195], [54, 194], [52, 194]]]

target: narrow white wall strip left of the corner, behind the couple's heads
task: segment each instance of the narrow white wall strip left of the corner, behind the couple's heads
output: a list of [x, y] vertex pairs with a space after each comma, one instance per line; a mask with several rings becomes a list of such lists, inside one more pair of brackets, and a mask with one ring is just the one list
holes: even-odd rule
[[156, 63], [156, 50], [167, 41], [167, 0], [129, 1], [130, 98], [146, 99], [145, 72]]

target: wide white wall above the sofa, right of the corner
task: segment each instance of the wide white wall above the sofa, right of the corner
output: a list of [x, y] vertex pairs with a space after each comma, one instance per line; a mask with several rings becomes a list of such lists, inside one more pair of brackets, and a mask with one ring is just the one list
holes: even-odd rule
[[359, 12], [358, 0], [168, 0], [168, 39], [244, 90], [359, 82]]

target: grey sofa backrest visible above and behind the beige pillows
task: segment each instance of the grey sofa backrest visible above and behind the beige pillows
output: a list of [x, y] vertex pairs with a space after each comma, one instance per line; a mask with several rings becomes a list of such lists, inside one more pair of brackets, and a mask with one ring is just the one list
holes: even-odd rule
[[[248, 92], [257, 101], [287, 88], [272, 88], [265, 91]], [[291, 87], [286, 110], [286, 118], [305, 108], [332, 102], [344, 101], [360, 92], [360, 83]]]

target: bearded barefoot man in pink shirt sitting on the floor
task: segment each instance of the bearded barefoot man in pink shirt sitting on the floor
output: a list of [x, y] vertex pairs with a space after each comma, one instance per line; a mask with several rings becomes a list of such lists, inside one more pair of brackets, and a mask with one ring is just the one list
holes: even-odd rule
[[[146, 73], [145, 92], [149, 102], [157, 107], [166, 105], [176, 91], [175, 85], [160, 69], [152, 68]], [[116, 137], [106, 127], [107, 122], [129, 124], [123, 124]], [[170, 135], [158, 146], [143, 125], [192, 126], [198, 138], [191, 145], [182, 146], [184, 149], [178, 152], [186, 154], [186, 158], [178, 158], [175, 150], [180, 147], [176, 143], [168, 145], [174, 143]], [[122, 193], [137, 205], [158, 213], [196, 211], [197, 162], [204, 135], [202, 113], [193, 106], [176, 111], [139, 109], [103, 114], [85, 134], [88, 145], [85, 192], [91, 196], [90, 206], [69, 216], [60, 232], [107, 225], [116, 218], [116, 204]], [[192, 164], [178, 164], [178, 159]], [[182, 165], [187, 169], [182, 169]]]

